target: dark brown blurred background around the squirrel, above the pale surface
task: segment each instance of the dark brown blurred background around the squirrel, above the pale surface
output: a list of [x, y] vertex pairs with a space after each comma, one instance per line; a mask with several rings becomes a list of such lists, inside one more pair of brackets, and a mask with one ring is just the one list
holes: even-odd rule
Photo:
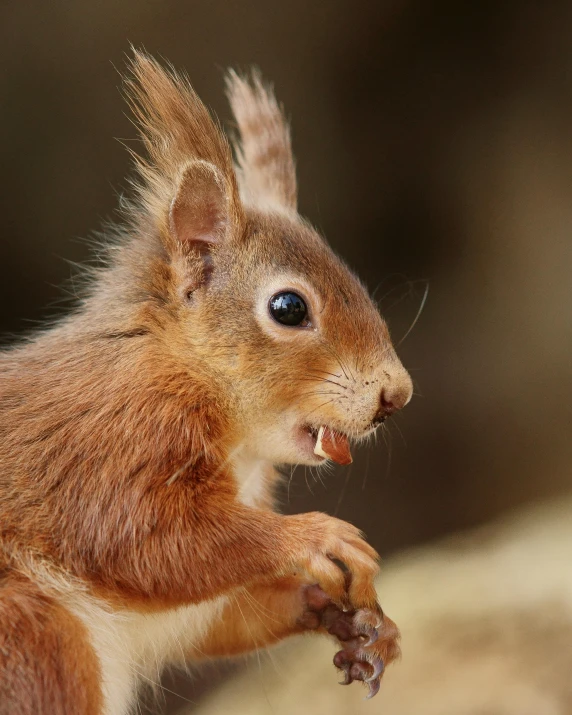
[[[4, 0], [0, 334], [58, 311], [135, 137], [129, 43], [229, 118], [258, 65], [291, 117], [300, 210], [379, 299], [417, 396], [376, 447], [295, 475], [383, 556], [558, 497], [572, 463], [572, 5], [508, 0]], [[199, 700], [205, 680], [169, 682]], [[167, 694], [165, 711], [184, 701]]]

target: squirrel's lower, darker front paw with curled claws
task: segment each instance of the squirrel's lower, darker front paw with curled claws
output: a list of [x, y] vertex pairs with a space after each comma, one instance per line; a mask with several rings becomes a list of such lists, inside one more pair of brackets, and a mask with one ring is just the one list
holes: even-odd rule
[[340, 650], [334, 665], [344, 674], [343, 685], [360, 680], [369, 687], [368, 698], [379, 690], [387, 665], [400, 654], [399, 630], [379, 606], [343, 610], [318, 586], [305, 587], [305, 608], [298, 619], [304, 629], [323, 628], [335, 636]]

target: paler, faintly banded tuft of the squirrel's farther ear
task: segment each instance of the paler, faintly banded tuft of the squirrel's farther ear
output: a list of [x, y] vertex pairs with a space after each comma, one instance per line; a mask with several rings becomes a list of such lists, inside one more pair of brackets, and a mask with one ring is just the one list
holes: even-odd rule
[[243, 199], [259, 208], [295, 212], [296, 170], [290, 129], [273, 91], [256, 71], [248, 80], [230, 70], [226, 87], [240, 134], [235, 150]]

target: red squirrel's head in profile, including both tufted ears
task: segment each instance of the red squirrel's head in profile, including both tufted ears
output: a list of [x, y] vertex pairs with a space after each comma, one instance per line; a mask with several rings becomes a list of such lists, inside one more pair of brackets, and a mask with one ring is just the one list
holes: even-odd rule
[[165, 370], [176, 364], [189, 385], [208, 386], [197, 394], [224, 414], [229, 448], [319, 464], [320, 427], [347, 444], [411, 398], [387, 326], [299, 216], [289, 128], [260, 77], [227, 77], [233, 160], [184, 77], [142, 53], [131, 70], [128, 96], [148, 157], [136, 157], [124, 260], [133, 263], [138, 241], [155, 246], [135, 268], [137, 321], [168, 356]]

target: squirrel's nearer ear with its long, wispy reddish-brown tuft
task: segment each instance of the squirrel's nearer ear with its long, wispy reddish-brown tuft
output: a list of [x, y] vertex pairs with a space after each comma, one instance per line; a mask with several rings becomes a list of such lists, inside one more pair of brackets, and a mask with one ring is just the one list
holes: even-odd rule
[[174, 231], [180, 244], [192, 237], [215, 243], [223, 214], [239, 230], [244, 215], [230, 145], [188, 79], [134, 50], [125, 86], [148, 154], [132, 152], [141, 177], [137, 189], [161, 234]]

